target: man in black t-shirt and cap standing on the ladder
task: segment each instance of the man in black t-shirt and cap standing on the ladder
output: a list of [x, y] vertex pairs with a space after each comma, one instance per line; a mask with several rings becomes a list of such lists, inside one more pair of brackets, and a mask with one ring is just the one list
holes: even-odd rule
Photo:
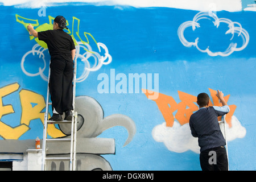
[[52, 100], [52, 117], [49, 120], [62, 121], [61, 115], [65, 112], [65, 120], [72, 119], [73, 98], [73, 69], [76, 48], [71, 35], [63, 31], [66, 19], [56, 16], [53, 22], [53, 30], [37, 32], [29, 24], [28, 31], [43, 40], [51, 55], [51, 73], [49, 78], [49, 92]]

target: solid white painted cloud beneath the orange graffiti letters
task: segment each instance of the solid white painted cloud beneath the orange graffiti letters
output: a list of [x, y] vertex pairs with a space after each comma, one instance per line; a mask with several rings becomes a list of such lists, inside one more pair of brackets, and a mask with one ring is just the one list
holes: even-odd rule
[[[220, 126], [223, 130], [223, 124]], [[232, 116], [232, 127], [229, 128], [226, 124], [225, 130], [227, 142], [236, 138], [243, 138], [246, 135], [245, 127], [241, 126], [240, 121], [234, 115]], [[197, 154], [200, 153], [197, 138], [191, 135], [189, 123], [180, 125], [179, 122], [175, 121], [172, 127], [166, 127], [166, 122], [164, 122], [154, 127], [152, 137], [156, 142], [163, 142], [167, 149], [172, 152], [181, 153], [191, 150]]]

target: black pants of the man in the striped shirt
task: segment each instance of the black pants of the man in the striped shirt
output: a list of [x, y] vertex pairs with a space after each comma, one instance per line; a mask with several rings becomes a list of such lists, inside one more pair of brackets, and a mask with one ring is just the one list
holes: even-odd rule
[[200, 165], [203, 171], [228, 171], [226, 148], [216, 147], [202, 151]]

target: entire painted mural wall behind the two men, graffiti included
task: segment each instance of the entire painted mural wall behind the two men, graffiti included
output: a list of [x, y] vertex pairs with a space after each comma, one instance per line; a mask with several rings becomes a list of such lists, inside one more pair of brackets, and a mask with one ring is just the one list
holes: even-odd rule
[[[0, 3], [1, 153], [43, 138], [50, 56], [26, 26], [49, 30], [63, 15], [77, 52], [80, 169], [201, 170], [188, 122], [197, 94], [221, 105], [216, 90], [230, 106], [230, 170], [256, 169], [254, 1], [47, 2]], [[48, 135], [68, 137], [58, 125]]]

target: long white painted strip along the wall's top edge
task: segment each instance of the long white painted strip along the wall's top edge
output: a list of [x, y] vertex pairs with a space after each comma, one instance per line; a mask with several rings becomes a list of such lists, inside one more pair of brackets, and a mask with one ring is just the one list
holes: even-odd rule
[[[241, 0], [1, 0], [5, 6], [19, 5], [20, 7], [38, 8], [53, 6], [53, 3], [96, 3], [97, 5], [133, 6], [133, 7], [173, 7], [197, 11], [241, 11]], [[232, 6], [230, 6], [232, 5]]]

